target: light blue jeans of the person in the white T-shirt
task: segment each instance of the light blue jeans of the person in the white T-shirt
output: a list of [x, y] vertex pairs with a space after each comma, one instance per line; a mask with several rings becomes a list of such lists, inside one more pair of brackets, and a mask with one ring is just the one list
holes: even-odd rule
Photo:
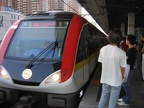
[[109, 96], [110, 96], [109, 108], [116, 108], [120, 90], [121, 86], [110, 86], [108, 84], [103, 84], [102, 96], [98, 108], [105, 108]]

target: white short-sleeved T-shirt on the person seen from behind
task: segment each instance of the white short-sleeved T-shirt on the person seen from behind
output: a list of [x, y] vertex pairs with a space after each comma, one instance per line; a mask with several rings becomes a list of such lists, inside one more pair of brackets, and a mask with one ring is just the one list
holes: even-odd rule
[[101, 83], [121, 86], [120, 67], [126, 67], [126, 53], [117, 46], [106, 45], [101, 48], [98, 61], [102, 63]]

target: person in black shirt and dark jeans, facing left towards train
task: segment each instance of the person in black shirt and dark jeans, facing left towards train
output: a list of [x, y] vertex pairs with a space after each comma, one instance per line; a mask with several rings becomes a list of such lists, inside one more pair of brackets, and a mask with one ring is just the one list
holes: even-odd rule
[[125, 96], [119, 99], [118, 105], [129, 105], [131, 99], [130, 82], [134, 74], [134, 64], [136, 61], [137, 50], [135, 47], [136, 37], [135, 35], [129, 34], [126, 36], [126, 44], [128, 45], [128, 50], [126, 52], [127, 64], [130, 65], [129, 75], [126, 82], [123, 82], [122, 86], [125, 90]]

